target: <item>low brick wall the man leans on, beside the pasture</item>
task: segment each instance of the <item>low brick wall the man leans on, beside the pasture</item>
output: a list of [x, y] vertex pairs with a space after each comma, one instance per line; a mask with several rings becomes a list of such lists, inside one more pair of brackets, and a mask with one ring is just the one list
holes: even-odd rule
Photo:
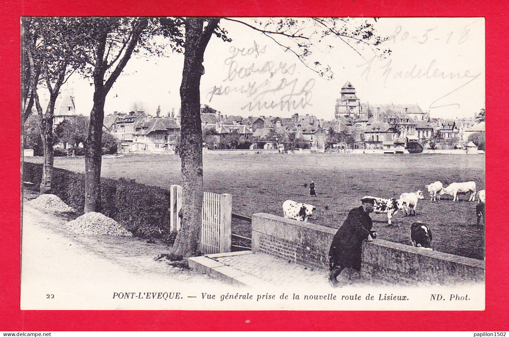
[[[336, 229], [256, 213], [251, 223], [253, 252], [328, 269]], [[398, 284], [484, 282], [485, 262], [375, 239], [362, 244], [361, 274]]]

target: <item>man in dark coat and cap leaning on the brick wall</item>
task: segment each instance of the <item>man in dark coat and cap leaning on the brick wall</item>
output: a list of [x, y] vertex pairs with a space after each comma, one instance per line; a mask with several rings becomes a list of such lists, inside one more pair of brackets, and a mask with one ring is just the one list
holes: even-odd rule
[[362, 198], [361, 206], [353, 208], [347, 219], [337, 230], [329, 250], [329, 283], [337, 287], [337, 276], [345, 268], [353, 268], [360, 271], [360, 255], [363, 240], [376, 238], [377, 233], [371, 231], [373, 221], [370, 213], [373, 212], [373, 198]]

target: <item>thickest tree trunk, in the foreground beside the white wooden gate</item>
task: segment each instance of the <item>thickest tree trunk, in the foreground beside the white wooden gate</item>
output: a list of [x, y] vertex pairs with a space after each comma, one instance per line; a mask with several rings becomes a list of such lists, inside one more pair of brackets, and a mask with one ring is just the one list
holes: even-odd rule
[[196, 256], [202, 226], [203, 158], [200, 116], [200, 80], [204, 73], [203, 55], [219, 19], [187, 18], [180, 100], [182, 107], [179, 155], [182, 162], [182, 220], [168, 258], [181, 260]]

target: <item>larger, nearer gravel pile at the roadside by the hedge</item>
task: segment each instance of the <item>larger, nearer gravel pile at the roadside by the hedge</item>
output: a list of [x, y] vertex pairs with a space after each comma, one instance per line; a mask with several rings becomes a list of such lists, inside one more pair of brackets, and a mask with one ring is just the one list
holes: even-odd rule
[[84, 213], [81, 217], [69, 221], [67, 226], [76, 234], [132, 236], [132, 233], [118, 222], [98, 212]]

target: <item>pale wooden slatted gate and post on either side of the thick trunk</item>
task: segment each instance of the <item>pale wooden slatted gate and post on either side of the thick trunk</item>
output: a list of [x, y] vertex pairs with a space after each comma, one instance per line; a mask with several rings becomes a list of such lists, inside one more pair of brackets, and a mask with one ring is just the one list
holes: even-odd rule
[[[182, 208], [182, 187], [170, 190], [170, 225], [172, 232], [180, 229], [179, 211]], [[232, 195], [203, 193], [202, 226], [199, 232], [203, 254], [232, 251]]]

